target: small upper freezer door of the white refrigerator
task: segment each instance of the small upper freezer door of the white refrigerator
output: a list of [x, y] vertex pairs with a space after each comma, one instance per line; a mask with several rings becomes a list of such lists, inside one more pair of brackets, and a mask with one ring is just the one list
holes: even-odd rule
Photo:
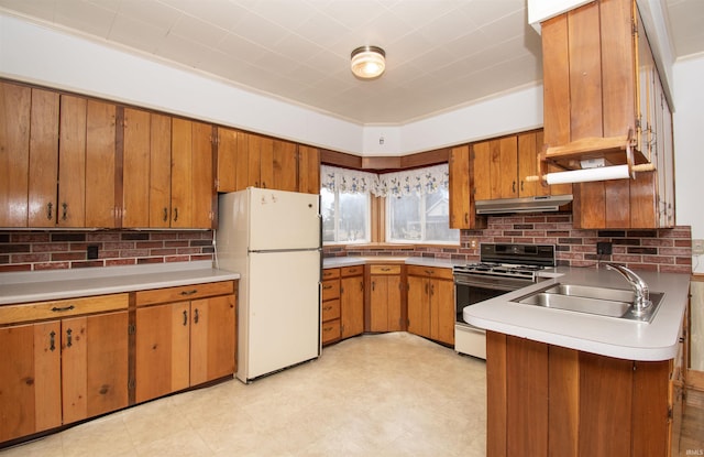
[[250, 250], [320, 247], [318, 195], [250, 188]]

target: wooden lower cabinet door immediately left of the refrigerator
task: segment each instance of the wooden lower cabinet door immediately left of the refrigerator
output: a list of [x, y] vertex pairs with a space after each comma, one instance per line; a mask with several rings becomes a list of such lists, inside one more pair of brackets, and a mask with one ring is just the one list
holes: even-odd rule
[[190, 304], [190, 385], [234, 373], [234, 295]]

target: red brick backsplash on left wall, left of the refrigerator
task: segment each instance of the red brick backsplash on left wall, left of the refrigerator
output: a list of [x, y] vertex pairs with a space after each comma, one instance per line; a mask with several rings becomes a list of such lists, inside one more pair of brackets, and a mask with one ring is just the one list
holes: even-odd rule
[[[87, 247], [98, 247], [88, 260]], [[211, 230], [0, 231], [0, 272], [212, 260]]]

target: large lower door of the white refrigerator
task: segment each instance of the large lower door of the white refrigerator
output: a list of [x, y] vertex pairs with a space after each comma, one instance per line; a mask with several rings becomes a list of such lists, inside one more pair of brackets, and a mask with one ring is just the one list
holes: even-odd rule
[[248, 380], [318, 357], [320, 252], [251, 253], [249, 286]]

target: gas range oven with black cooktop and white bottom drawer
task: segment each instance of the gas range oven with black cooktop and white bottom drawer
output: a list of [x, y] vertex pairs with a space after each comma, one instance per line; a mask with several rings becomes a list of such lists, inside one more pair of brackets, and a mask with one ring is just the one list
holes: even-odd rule
[[479, 263], [455, 265], [454, 350], [486, 359], [486, 334], [464, 322], [464, 308], [530, 285], [540, 270], [554, 265], [552, 244], [509, 243], [482, 243]]

